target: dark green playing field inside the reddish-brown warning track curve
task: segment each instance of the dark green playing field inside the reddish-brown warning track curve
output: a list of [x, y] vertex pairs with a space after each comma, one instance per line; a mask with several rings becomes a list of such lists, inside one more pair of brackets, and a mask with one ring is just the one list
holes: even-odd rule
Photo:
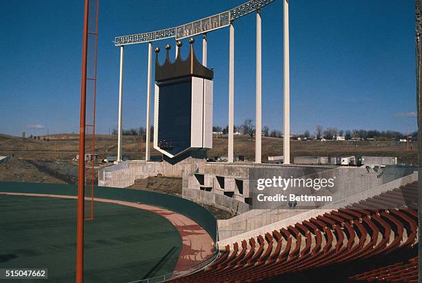
[[[94, 220], [85, 222], [86, 282], [130, 282], [173, 271], [182, 242], [168, 220], [103, 202], [95, 202], [94, 211]], [[49, 279], [37, 282], [74, 282], [76, 213], [73, 199], [0, 195], [0, 269], [47, 268]]]

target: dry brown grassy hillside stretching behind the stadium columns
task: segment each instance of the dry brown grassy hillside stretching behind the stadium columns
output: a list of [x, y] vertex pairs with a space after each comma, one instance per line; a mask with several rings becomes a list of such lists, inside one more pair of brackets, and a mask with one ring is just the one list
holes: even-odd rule
[[[72, 160], [78, 154], [79, 136], [77, 134], [50, 135], [50, 140], [34, 140], [26, 138], [0, 135], [0, 156], [16, 156], [34, 160]], [[234, 136], [234, 154], [244, 156], [247, 160], [254, 160], [254, 140], [249, 136]], [[117, 155], [117, 136], [97, 135], [95, 147], [100, 158]], [[139, 136], [123, 136], [123, 154], [132, 159], [145, 158], [145, 143]], [[152, 155], [159, 155], [154, 150]], [[410, 145], [410, 151], [405, 151], [404, 143], [396, 142], [350, 142], [350, 141], [290, 141], [291, 156], [351, 156], [361, 154], [365, 156], [397, 156], [399, 163], [417, 162], [417, 143]], [[214, 137], [213, 149], [208, 151], [209, 157], [227, 156], [228, 139]], [[282, 138], [262, 138], [262, 160], [268, 156], [283, 155]]]

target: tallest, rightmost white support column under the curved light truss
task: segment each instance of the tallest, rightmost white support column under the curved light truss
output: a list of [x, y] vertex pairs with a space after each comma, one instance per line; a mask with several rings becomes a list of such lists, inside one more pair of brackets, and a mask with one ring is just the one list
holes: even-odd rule
[[290, 63], [289, 63], [289, 3], [283, 0], [283, 49], [284, 49], [284, 164], [290, 164]]

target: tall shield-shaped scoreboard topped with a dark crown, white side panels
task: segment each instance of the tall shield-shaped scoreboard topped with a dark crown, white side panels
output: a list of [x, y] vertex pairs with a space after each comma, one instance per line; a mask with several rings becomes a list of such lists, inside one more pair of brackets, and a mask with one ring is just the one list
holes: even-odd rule
[[187, 59], [181, 58], [181, 41], [177, 57], [170, 62], [170, 45], [165, 45], [163, 65], [159, 48], [155, 48], [154, 149], [174, 158], [188, 151], [212, 148], [212, 78], [194, 54], [194, 39], [189, 40]]

